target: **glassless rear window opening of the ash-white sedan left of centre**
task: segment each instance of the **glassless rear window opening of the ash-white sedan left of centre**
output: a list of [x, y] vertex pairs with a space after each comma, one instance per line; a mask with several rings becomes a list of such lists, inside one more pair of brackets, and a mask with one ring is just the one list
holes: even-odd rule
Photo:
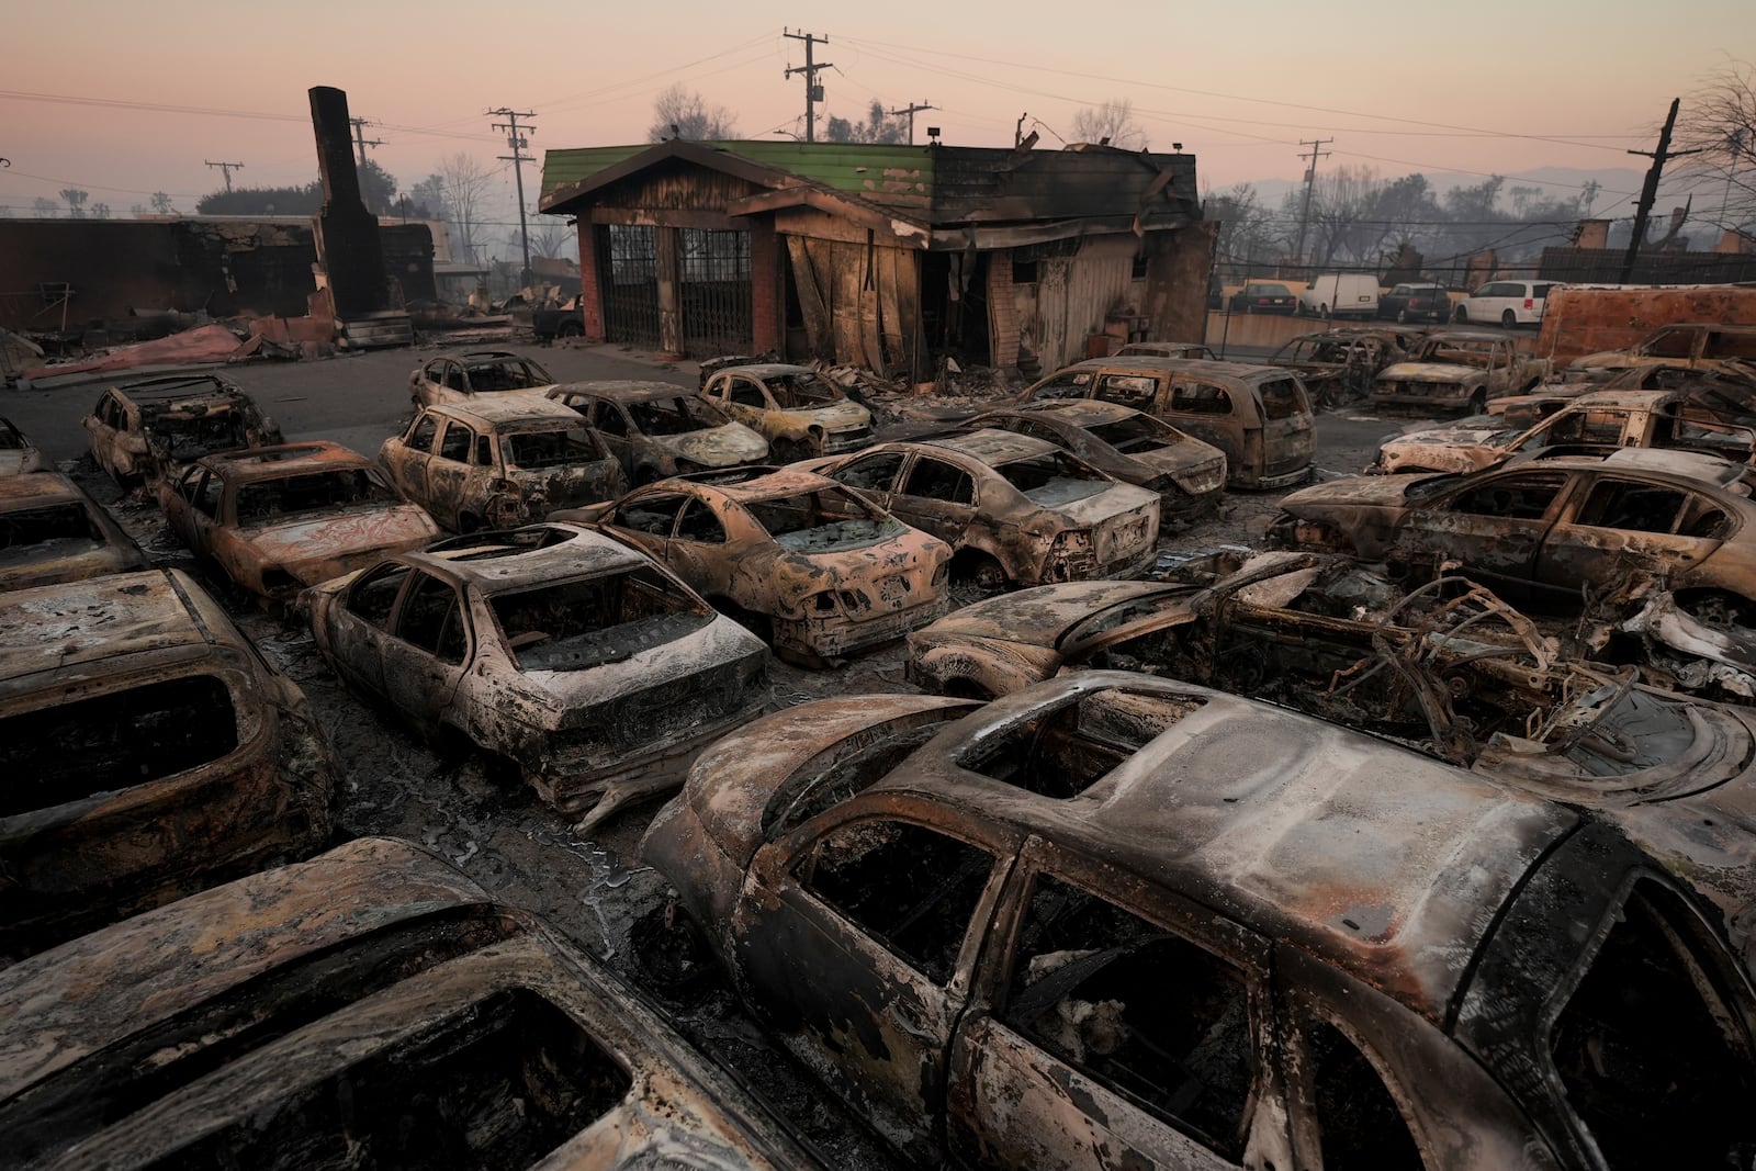
[[622, 662], [713, 621], [713, 611], [651, 569], [499, 593], [488, 604], [520, 671]]

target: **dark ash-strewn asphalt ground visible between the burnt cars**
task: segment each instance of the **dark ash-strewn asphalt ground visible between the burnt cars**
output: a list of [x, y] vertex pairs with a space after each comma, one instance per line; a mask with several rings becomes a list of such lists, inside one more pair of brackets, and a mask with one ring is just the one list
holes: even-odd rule
[[[658, 363], [608, 346], [516, 349], [537, 358], [560, 381], [639, 377], [688, 388], [697, 383], [694, 365]], [[435, 353], [439, 349], [428, 346], [325, 362], [216, 367], [216, 372], [244, 386], [279, 420], [288, 439], [334, 439], [371, 455], [404, 427], [411, 413], [409, 370]], [[165, 528], [149, 495], [121, 495], [84, 455], [81, 416], [105, 384], [139, 376], [0, 392], [0, 414], [12, 418], [51, 458], [72, 471], [158, 564], [212, 581]], [[1375, 453], [1377, 441], [1393, 430], [1398, 427], [1368, 414], [1321, 416], [1321, 474], [1359, 471]], [[1168, 532], [1161, 546], [1250, 542], [1275, 514], [1278, 495], [1233, 493], [1219, 518]], [[636, 987], [651, 987], [630, 946], [634, 923], [662, 908], [667, 897], [664, 881], [643, 867], [637, 855], [651, 806], [611, 820], [590, 837], [579, 836], [527, 788], [509, 788], [485, 774], [479, 760], [437, 755], [413, 730], [346, 693], [318, 658], [309, 632], [253, 609], [235, 611], [235, 618], [307, 692], [344, 762], [339, 816], [344, 837], [388, 834], [423, 843], [507, 902], [544, 915]], [[903, 681], [901, 648], [892, 644], [836, 671], [808, 672], [776, 664], [769, 702], [785, 708], [825, 695], [899, 690], [911, 688]], [[790, 1059], [767, 1045], [757, 1025], [738, 1011], [727, 988], [709, 981], [681, 1001], [664, 1002], [688, 1036], [774, 1101], [825, 1152], [831, 1166], [894, 1166], [862, 1127], [818, 1096]]]

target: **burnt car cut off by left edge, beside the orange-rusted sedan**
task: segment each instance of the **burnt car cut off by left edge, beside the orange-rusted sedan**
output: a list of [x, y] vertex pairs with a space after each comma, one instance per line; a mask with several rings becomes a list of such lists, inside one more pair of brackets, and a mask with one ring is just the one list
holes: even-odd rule
[[133, 537], [67, 476], [0, 476], [0, 590], [146, 567]]

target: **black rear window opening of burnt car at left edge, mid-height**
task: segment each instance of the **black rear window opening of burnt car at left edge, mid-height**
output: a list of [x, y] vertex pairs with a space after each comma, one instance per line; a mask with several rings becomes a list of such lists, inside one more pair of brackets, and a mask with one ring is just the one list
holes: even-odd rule
[[237, 750], [232, 692], [211, 674], [160, 679], [0, 720], [0, 816], [146, 785]]

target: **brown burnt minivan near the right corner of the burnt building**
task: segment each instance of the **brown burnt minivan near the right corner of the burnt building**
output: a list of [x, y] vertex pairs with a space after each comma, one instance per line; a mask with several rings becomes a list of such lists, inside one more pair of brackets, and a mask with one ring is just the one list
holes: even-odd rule
[[1029, 386], [1015, 402], [1103, 399], [1154, 414], [1226, 453], [1233, 488], [1287, 488], [1310, 476], [1312, 404], [1271, 365], [1182, 358], [1094, 358]]

